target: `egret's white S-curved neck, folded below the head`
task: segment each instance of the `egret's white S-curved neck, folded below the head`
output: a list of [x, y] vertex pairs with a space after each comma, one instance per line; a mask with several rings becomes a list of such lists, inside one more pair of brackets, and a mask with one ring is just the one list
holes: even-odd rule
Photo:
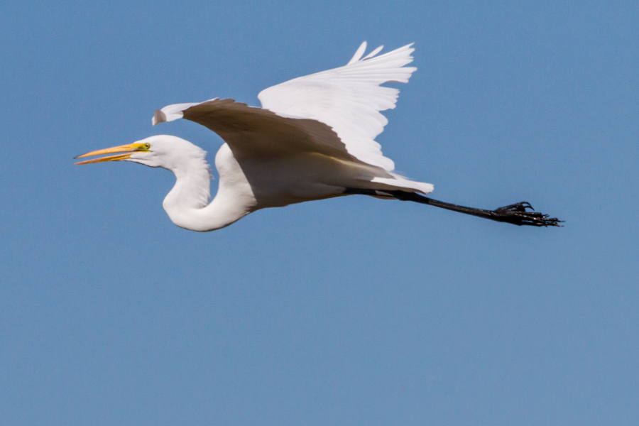
[[175, 173], [175, 185], [163, 202], [171, 221], [181, 228], [206, 232], [229, 226], [251, 213], [256, 204], [251, 185], [241, 173], [239, 165], [232, 169], [220, 170], [218, 167], [220, 178], [217, 195], [208, 205], [211, 176], [205, 160], [194, 160], [187, 168], [172, 170]]

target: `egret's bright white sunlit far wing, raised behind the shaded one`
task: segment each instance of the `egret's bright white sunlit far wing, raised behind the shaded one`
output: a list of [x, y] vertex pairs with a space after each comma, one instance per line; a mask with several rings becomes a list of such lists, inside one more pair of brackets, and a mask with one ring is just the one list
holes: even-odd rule
[[380, 111], [395, 108], [399, 90], [380, 84], [407, 83], [417, 68], [405, 67], [413, 62], [412, 44], [376, 56], [382, 47], [360, 59], [366, 50], [364, 42], [347, 65], [269, 87], [258, 99], [263, 108], [277, 114], [327, 124], [351, 155], [393, 170], [393, 160], [383, 156], [375, 138], [388, 124]]

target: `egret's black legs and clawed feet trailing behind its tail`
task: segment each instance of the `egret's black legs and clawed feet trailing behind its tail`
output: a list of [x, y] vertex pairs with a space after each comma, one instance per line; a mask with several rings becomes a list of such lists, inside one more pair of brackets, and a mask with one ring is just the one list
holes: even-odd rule
[[496, 222], [506, 222], [508, 224], [518, 226], [562, 226], [559, 223], [563, 222], [556, 217], [549, 218], [547, 214], [535, 212], [534, 209], [532, 209], [530, 203], [525, 201], [518, 202], [517, 204], [510, 204], [509, 206], [505, 207], [500, 207], [496, 210], [484, 210], [433, 200], [432, 198], [424, 197], [423, 195], [417, 194], [417, 192], [405, 192], [398, 190], [362, 190], [358, 188], [346, 188], [344, 194], [371, 195], [373, 197], [389, 197], [395, 198], [396, 200], [419, 202], [420, 204], [428, 204], [430, 206], [452, 210], [453, 212], [471, 214], [476, 217], [483, 217], [484, 219], [491, 219]]

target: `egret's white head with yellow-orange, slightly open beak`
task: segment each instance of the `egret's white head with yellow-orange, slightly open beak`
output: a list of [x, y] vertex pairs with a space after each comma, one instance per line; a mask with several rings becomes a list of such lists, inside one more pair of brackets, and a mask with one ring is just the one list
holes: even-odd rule
[[202, 161], [206, 163], [205, 158], [207, 153], [202, 148], [182, 138], [158, 135], [129, 143], [129, 145], [114, 146], [113, 148], [92, 151], [78, 155], [75, 158], [104, 154], [115, 155], [84, 160], [76, 164], [104, 163], [105, 161], [132, 161], [133, 163], [148, 165], [149, 167], [165, 168], [176, 173], [180, 170], [188, 170], [194, 161], [198, 164], [201, 164]]

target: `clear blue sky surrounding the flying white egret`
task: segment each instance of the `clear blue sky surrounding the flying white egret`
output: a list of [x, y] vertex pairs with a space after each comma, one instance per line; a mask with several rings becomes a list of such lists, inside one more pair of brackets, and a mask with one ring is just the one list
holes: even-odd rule
[[[637, 425], [636, 1], [3, 1], [0, 424]], [[378, 137], [437, 200], [173, 225], [166, 170], [73, 165], [415, 42]], [[217, 181], [212, 183], [213, 190]]]

